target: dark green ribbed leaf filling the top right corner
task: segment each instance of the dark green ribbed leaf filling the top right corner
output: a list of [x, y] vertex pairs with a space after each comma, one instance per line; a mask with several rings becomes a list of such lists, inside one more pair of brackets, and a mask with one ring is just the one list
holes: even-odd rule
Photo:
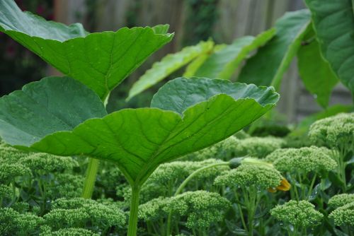
[[354, 94], [354, 13], [350, 0], [306, 0], [321, 52]]

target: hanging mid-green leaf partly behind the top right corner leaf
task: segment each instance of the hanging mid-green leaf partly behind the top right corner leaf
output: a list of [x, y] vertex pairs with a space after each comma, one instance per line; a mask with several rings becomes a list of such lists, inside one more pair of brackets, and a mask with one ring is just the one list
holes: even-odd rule
[[297, 66], [307, 90], [316, 96], [319, 105], [327, 107], [338, 78], [329, 63], [321, 56], [319, 42], [314, 37], [312, 25], [304, 36], [304, 44], [297, 52]]

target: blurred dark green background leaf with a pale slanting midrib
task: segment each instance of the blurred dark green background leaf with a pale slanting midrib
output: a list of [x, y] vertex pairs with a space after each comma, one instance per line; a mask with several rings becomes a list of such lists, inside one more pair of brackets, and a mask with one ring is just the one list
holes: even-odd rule
[[307, 9], [285, 13], [275, 23], [276, 35], [246, 61], [238, 81], [278, 88], [310, 21]]

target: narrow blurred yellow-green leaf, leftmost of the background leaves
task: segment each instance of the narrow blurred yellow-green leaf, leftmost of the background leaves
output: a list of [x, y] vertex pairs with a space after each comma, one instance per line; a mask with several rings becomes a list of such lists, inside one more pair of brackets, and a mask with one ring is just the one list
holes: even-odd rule
[[200, 42], [198, 45], [184, 47], [180, 52], [168, 54], [161, 59], [161, 61], [155, 62], [152, 68], [147, 70], [144, 75], [132, 85], [127, 100], [142, 93], [142, 91], [150, 88], [152, 85], [159, 83], [173, 73], [173, 71], [185, 66], [185, 64], [188, 64], [200, 54], [210, 51], [213, 45], [214, 43], [212, 41]]

